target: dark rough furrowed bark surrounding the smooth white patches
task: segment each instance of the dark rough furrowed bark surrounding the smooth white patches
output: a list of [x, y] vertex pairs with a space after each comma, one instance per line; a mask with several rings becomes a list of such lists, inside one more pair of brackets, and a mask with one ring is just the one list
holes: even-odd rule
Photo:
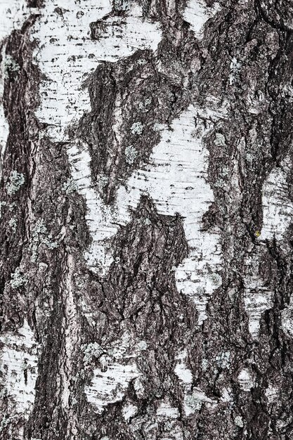
[[[29, 363], [15, 368], [15, 377], [23, 375], [26, 387], [32, 371], [36, 382], [26, 411], [7, 386], [14, 367], [11, 372], [3, 355], [0, 439], [293, 438], [292, 214], [286, 211], [293, 203], [293, 6], [218, 4], [200, 39], [183, 19], [185, 1], [142, 1], [143, 18], [160, 25], [157, 51], [138, 48], [115, 62], [99, 60], [83, 84], [91, 109], [65, 127], [63, 141], [49, 136], [50, 122], [36, 115], [46, 74], [32, 51], [44, 42], [30, 36], [46, 1], [30, 2], [39, 12], [2, 41], [2, 56], [18, 68], [6, 65], [3, 96], [9, 135], [0, 197], [0, 348], [5, 354], [5, 337], [15, 337], [10, 349], [25, 353]], [[122, 26], [129, 10], [115, 2], [84, 34], [100, 41], [112, 32], [112, 18]], [[55, 13], [67, 10], [58, 4]], [[52, 37], [44, 44], [53, 43]], [[130, 221], [117, 221], [118, 232], [107, 241], [112, 262], [101, 275], [84, 257], [94, 241], [87, 200], [69, 183], [74, 161], [68, 150], [82, 141], [91, 186], [115, 212], [119, 188], [126, 184], [130, 192], [131, 175], [140, 170], [145, 179], [154, 162], [163, 136], [154, 124], [165, 124], [172, 136], [172, 124], [190, 105], [227, 112], [215, 119], [198, 110], [194, 117], [195, 138], [200, 127], [211, 127], [202, 143], [214, 200], [200, 231], [218, 228], [222, 255], [221, 267], [209, 268], [211, 276], [221, 275], [221, 285], [208, 295], [200, 325], [196, 302], [176, 285], [176, 269], [190, 255], [180, 207], [178, 214], [162, 214], [142, 191]], [[282, 184], [275, 180], [270, 199], [285, 212], [276, 227], [263, 197], [274, 170], [285, 176]], [[19, 187], [9, 190], [15, 171]], [[282, 221], [288, 223], [284, 233]], [[258, 295], [269, 296], [266, 306], [254, 304]], [[259, 314], [257, 336], [249, 327], [253, 313]], [[32, 344], [21, 337], [25, 320]], [[37, 356], [36, 365], [30, 356]], [[113, 380], [115, 390], [102, 395], [99, 406], [93, 384], [113, 365], [122, 379]], [[192, 375], [190, 382], [176, 365]]]

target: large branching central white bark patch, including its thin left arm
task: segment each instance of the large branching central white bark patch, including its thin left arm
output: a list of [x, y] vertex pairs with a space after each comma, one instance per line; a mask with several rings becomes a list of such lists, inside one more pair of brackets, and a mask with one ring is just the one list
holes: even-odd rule
[[[117, 192], [115, 206], [105, 206], [91, 186], [90, 156], [85, 147], [73, 145], [68, 150], [72, 177], [86, 198], [86, 215], [93, 242], [86, 260], [93, 271], [105, 274], [112, 263], [110, 238], [118, 226], [131, 220], [129, 208], [136, 209], [141, 195], [148, 194], [159, 214], [183, 216], [190, 254], [174, 268], [176, 285], [191, 297], [199, 312], [199, 325], [207, 318], [207, 302], [221, 285], [221, 246], [219, 230], [202, 231], [202, 216], [214, 200], [207, 183], [209, 153], [204, 147], [206, 136], [224, 110], [202, 109], [190, 105], [171, 129], [162, 131], [162, 141], [154, 148], [149, 164], [134, 172]], [[195, 119], [197, 124], [195, 127]], [[195, 134], [195, 128], [196, 134]]]

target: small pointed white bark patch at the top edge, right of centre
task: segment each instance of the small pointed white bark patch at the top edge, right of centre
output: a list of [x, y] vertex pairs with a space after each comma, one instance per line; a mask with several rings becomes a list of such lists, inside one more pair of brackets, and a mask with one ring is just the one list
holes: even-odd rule
[[204, 0], [190, 0], [183, 12], [183, 18], [190, 23], [195, 37], [201, 40], [204, 36], [205, 23], [220, 10], [221, 6], [218, 3], [209, 8]]

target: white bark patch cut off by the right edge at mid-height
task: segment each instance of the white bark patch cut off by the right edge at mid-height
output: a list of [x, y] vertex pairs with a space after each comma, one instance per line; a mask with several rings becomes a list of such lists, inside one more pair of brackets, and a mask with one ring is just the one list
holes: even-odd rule
[[293, 203], [289, 200], [286, 182], [292, 162], [285, 158], [281, 166], [273, 169], [263, 185], [263, 228], [261, 240], [282, 240], [292, 221]]

